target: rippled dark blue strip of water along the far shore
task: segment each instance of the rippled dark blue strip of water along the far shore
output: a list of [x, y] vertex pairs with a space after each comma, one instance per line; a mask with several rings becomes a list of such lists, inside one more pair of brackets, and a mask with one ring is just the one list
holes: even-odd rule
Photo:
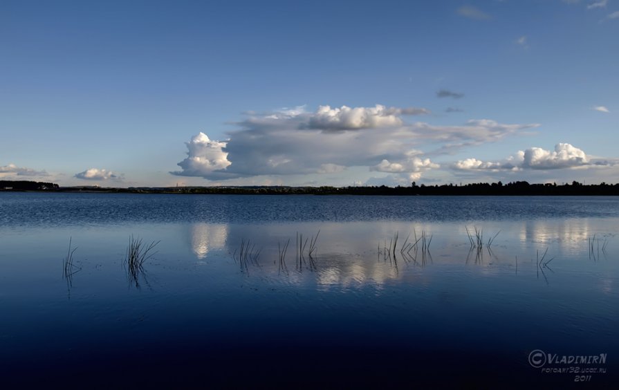
[[575, 196], [0, 194], [0, 223], [483, 221], [618, 217], [619, 199]]

